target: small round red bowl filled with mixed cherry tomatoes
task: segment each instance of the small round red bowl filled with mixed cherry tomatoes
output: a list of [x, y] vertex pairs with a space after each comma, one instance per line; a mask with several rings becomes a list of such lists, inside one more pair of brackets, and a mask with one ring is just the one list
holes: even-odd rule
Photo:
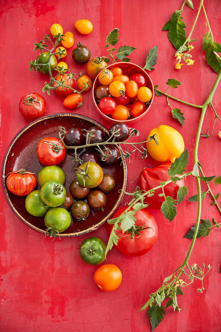
[[[147, 87], [151, 90], [152, 92], [152, 98], [151, 98], [151, 104], [153, 103], [153, 98], [154, 98], [154, 86], [153, 86], [153, 82], [150, 78], [150, 76], [146, 73], [145, 70], [143, 70], [140, 66], [138, 66], [137, 64], [135, 63], [131, 63], [131, 62], [116, 62], [116, 63], [112, 63], [110, 64], [107, 68], [108, 69], [111, 69], [112, 67], [120, 67], [122, 69], [122, 72], [123, 72], [123, 75], [127, 75], [128, 77], [130, 77], [131, 75], [133, 74], [136, 74], [136, 73], [139, 73], [139, 74], [142, 74], [144, 77], [146, 77], [146, 80], [147, 80]], [[99, 76], [99, 75], [98, 75]], [[94, 81], [94, 84], [93, 84], [93, 87], [92, 87], [92, 96], [93, 96], [93, 100], [94, 100], [94, 105], [98, 111], [98, 113], [101, 114], [101, 116], [103, 118], [105, 118], [106, 120], [114, 123], [116, 122], [116, 120], [112, 119], [111, 118], [111, 115], [106, 115], [104, 113], [102, 113], [100, 110], [99, 110], [99, 107], [98, 107], [98, 104], [96, 102], [96, 99], [95, 99], [95, 96], [94, 96], [94, 92], [96, 90], [96, 88], [101, 85], [101, 83], [99, 82], [98, 80], [98, 76], [95, 78], [95, 81]], [[136, 117], [136, 118], [132, 118], [130, 117], [128, 120], [124, 120], [122, 122], [125, 122], [127, 124], [131, 124], [131, 123], [134, 123], [134, 122], [137, 122], [139, 121], [140, 119], [142, 119], [146, 114], [147, 112], [149, 111], [150, 107], [151, 107], [151, 104], [147, 104], [147, 108], [146, 108], [146, 111], [141, 114], [140, 116]], [[117, 120], [119, 121], [119, 120]]]

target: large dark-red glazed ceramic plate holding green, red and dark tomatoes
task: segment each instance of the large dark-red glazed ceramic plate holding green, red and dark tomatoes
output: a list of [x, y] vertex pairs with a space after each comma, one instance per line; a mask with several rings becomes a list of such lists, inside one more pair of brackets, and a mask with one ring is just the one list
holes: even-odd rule
[[[10, 143], [2, 163], [1, 178], [3, 192], [9, 207], [28, 227], [44, 234], [46, 228], [44, 225], [44, 217], [34, 217], [26, 211], [26, 197], [16, 196], [8, 191], [5, 175], [24, 168], [29, 172], [35, 172], [37, 177], [40, 169], [44, 167], [39, 162], [36, 155], [37, 143], [41, 138], [48, 136], [59, 138], [59, 126], [63, 126], [65, 129], [72, 126], [88, 129], [94, 125], [103, 128], [108, 135], [107, 128], [85, 116], [70, 113], [48, 115], [24, 127]], [[79, 154], [83, 151], [84, 150], [81, 150]], [[119, 151], [121, 153], [120, 149]], [[58, 166], [64, 171], [66, 177], [64, 186], [67, 191], [69, 191], [70, 183], [76, 179], [74, 165], [71, 162], [73, 159], [73, 150], [69, 149], [66, 152], [64, 160], [58, 164]], [[120, 206], [124, 195], [122, 190], [126, 189], [127, 184], [126, 163], [122, 162], [121, 158], [119, 158], [119, 161], [113, 166], [105, 166], [101, 164], [101, 167], [104, 173], [110, 174], [114, 178], [116, 183], [115, 188], [111, 193], [106, 194], [107, 204], [104, 211], [91, 209], [90, 215], [86, 220], [75, 221], [72, 219], [70, 226], [65, 232], [60, 234], [60, 237], [79, 236], [93, 231], [103, 225], [107, 219], [110, 219]], [[36, 190], [37, 189], [40, 189], [38, 184]]]

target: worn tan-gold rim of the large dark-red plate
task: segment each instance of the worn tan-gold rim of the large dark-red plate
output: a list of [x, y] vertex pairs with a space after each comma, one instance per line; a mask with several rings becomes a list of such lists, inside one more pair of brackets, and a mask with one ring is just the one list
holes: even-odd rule
[[[6, 162], [7, 162], [7, 159], [8, 159], [8, 156], [10, 154], [10, 151], [13, 147], [13, 145], [15, 144], [15, 142], [17, 141], [17, 139], [27, 130], [29, 129], [30, 127], [32, 127], [33, 125], [37, 124], [38, 122], [41, 122], [41, 121], [44, 121], [46, 119], [50, 119], [50, 118], [54, 118], [54, 117], [73, 117], [73, 118], [79, 118], [79, 119], [83, 119], [83, 120], [87, 120], [89, 122], [91, 122], [92, 124], [95, 124], [95, 125], [99, 125], [101, 126], [105, 132], [108, 134], [109, 131], [108, 129], [103, 126], [102, 124], [100, 124], [99, 122], [97, 122], [96, 120], [93, 120], [91, 118], [88, 118], [84, 115], [81, 115], [81, 114], [72, 114], [72, 113], [56, 113], [56, 114], [50, 114], [50, 115], [46, 115], [40, 119], [37, 119], [36, 121], [33, 121], [31, 122], [30, 124], [28, 124], [27, 126], [25, 126], [24, 128], [22, 128], [18, 134], [12, 139], [12, 141], [10, 142], [6, 152], [5, 152], [5, 155], [4, 155], [4, 158], [3, 158], [3, 162], [2, 162], [2, 170], [1, 170], [1, 178], [2, 178], [2, 188], [3, 188], [3, 193], [4, 193], [4, 196], [5, 196], [5, 199], [9, 205], [9, 207], [11, 208], [11, 210], [14, 212], [14, 214], [24, 223], [26, 224], [28, 227], [36, 230], [38, 233], [41, 233], [41, 234], [45, 234], [45, 231], [32, 225], [29, 221], [27, 221], [17, 210], [16, 208], [14, 207], [13, 203], [11, 202], [10, 198], [9, 198], [9, 195], [8, 195], [8, 191], [7, 191], [7, 187], [6, 187], [6, 182], [5, 182], [5, 167], [6, 167]], [[101, 225], [103, 225], [107, 220], [108, 218], [110, 218], [111, 214], [120, 206], [121, 204], [121, 201], [123, 199], [123, 196], [124, 196], [124, 190], [126, 189], [126, 185], [127, 185], [127, 165], [126, 165], [126, 161], [123, 161], [122, 159], [122, 150], [120, 148], [118, 148], [119, 152], [120, 152], [120, 155], [121, 155], [121, 160], [122, 160], [122, 166], [123, 166], [123, 186], [122, 186], [122, 190], [119, 194], [119, 197], [118, 197], [118, 200], [116, 202], [116, 204], [113, 206], [112, 208], [112, 211], [104, 218], [102, 219], [99, 223], [97, 223], [96, 225], [93, 225], [92, 227], [89, 227], [85, 230], [82, 230], [82, 231], [79, 231], [79, 232], [75, 232], [75, 233], [65, 233], [65, 234], [62, 234], [60, 233], [59, 235], [56, 235], [56, 237], [75, 237], [75, 236], [79, 236], [79, 235], [83, 235], [83, 234], [87, 234], [89, 232], [92, 232], [93, 230], [99, 228]]]

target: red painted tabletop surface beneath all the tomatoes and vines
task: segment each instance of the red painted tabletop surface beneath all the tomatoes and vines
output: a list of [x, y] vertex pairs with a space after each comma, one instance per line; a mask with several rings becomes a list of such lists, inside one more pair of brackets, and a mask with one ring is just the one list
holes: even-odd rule
[[[188, 31], [196, 15], [199, 1], [193, 1], [195, 10], [185, 6], [184, 22]], [[35, 42], [49, 33], [51, 24], [60, 23], [64, 32], [72, 31], [75, 42], [79, 40], [89, 46], [91, 55], [106, 55], [104, 48], [106, 36], [115, 27], [120, 29], [118, 45], [132, 45], [137, 49], [131, 55], [131, 62], [144, 66], [147, 51], [158, 44], [158, 61], [155, 70], [150, 72], [154, 84], [162, 90], [165, 82], [173, 77], [182, 82], [178, 89], [170, 93], [191, 103], [202, 104], [216, 79], [216, 73], [206, 64], [201, 52], [202, 37], [208, 31], [203, 13], [195, 27], [192, 38], [194, 66], [174, 69], [174, 48], [168, 41], [163, 25], [171, 14], [180, 9], [182, 1], [52, 1], [18, 0], [2, 1], [1, 15], [1, 160], [4, 152], [16, 133], [28, 124], [18, 111], [20, 98], [28, 92], [41, 93], [46, 77], [29, 72], [28, 62], [36, 58], [33, 53]], [[221, 42], [219, 0], [205, 1], [208, 19], [215, 41]], [[94, 24], [90, 35], [80, 35], [74, 29], [77, 19], [87, 18]], [[76, 65], [71, 58], [71, 50], [64, 59], [69, 68], [77, 75], [85, 66]], [[62, 98], [51, 93], [44, 96], [47, 114], [66, 112]], [[213, 104], [220, 115], [220, 86]], [[79, 113], [90, 116], [109, 126], [97, 113], [92, 103], [91, 91], [84, 96], [85, 106]], [[190, 161], [188, 169], [193, 168], [193, 144], [200, 116], [200, 110], [176, 102], [171, 102], [184, 113], [185, 125], [181, 125], [170, 114], [164, 97], [155, 97], [154, 105], [147, 116], [137, 122], [135, 127], [140, 137], [160, 124], [171, 125], [178, 129], [188, 148]], [[76, 112], [75, 110], [73, 112]], [[209, 108], [203, 124], [203, 132], [212, 127], [213, 112]], [[214, 134], [201, 138], [199, 143], [199, 162], [206, 176], [220, 175], [220, 144], [217, 132], [221, 129], [217, 121]], [[31, 137], [30, 137], [31, 140]], [[27, 156], [28, 157], [28, 156]], [[150, 157], [140, 161], [138, 154], [133, 155], [128, 166], [128, 191], [139, 185], [138, 179], [130, 183], [146, 165], [154, 166]], [[196, 193], [194, 179], [187, 179], [188, 197]], [[214, 193], [219, 188], [211, 185]], [[206, 186], [202, 184], [202, 189]], [[127, 199], [124, 199], [126, 202]], [[202, 203], [202, 218], [214, 217], [220, 222], [220, 215], [208, 196]], [[152, 250], [139, 258], [128, 258], [112, 249], [107, 263], [116, 264], [122, 271], [123, 280], [118, 290], [106, 293], [93, 281], [96, 267], [88, 266], [79, 257], [80, 243], [87, 237], [56, 239], [44, 238], [29, 229], [15, 217], [1, 193], [1, 268], [0, 268], [0, 330], [1, 331], [151, 331], [147, 312], [136, 313], [147, 300], [148, 294], [158, 289], [163, 279], [171, 274], [184, 260], [190, 240], [184, 234], [195, 223], [197, 205], [185, 201], [177, 208], [175, 220], [170, 223], [160, 211], [152, 210], [159, 228], [159, 237]], [[106, 243], [108, 227], [102, 226], [90, 235], [98, 236]], [[212, 229], [207, 238], [196, 240], [190, 257], [191, 263], [202, 262], [212, 265], [211, 272], [205, 277], [202, 294], [195, 292], [200, 284], [184, 289], [178, 297], [180, 314], [170, 307], [164, 321], [156, 331], [220, 331], [220, 231]]]

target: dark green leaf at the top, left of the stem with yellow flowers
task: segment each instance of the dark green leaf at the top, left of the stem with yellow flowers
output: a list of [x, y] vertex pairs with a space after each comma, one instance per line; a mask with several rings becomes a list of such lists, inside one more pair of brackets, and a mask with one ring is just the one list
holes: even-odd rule
[[181, 17], [182, 10], [176, 10], [171, 16], [171, 20], [168, 21], [162, 31], [168, 30], [169, 41], [172, 42], [176, 49], [179, 49], [186, 41], [185, 23], [183, 17]]

